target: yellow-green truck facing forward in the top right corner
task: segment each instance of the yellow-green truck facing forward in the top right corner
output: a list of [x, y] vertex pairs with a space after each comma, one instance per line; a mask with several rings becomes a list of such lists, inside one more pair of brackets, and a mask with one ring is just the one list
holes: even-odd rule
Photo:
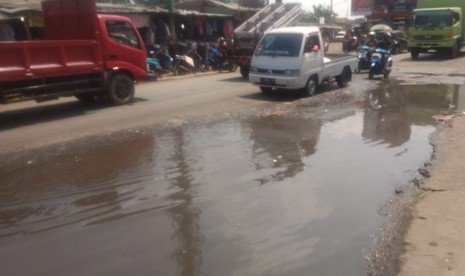
[[409, 27], [412, 59], [434, 50], [456, 58], [464, 43], [464, 0], [418, 0]]

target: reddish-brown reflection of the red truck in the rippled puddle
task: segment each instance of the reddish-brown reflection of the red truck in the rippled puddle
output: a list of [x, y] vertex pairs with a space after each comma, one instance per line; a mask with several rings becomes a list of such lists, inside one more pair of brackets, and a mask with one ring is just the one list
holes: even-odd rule
[[121, 211], [121, 205], [140, 200], [134, 193], [152, 177], [145, 164], [151, 163], [147, 149], [154, 147], [153, 139], [84, 147], [65, 149], [54, 160], [36, 158], [26, 167], [4, 168], [8, 172], [1, 174], [9, 177], [0, 185], [0, 236], [124, 217], [128, 210]]

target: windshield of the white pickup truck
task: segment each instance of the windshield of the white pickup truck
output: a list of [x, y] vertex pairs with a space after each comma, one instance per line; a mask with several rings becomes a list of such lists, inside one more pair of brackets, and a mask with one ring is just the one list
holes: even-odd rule
[[257, 45], [255, 55], [298, 57], [302, 34], [267, 34]]

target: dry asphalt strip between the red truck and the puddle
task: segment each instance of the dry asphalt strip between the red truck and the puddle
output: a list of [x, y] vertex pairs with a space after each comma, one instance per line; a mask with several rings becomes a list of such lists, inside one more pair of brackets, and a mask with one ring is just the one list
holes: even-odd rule
[[84, 106], [74, 98], [0, 106], [0, 154], [265, 102], [235, 72], [137, 84], [134, 102], [124, 106]]

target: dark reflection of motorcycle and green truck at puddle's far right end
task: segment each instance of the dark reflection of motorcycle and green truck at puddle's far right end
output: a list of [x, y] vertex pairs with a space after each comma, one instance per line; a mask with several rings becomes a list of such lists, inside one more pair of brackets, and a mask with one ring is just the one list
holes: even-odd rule
[[369, 93], [362, 137], [397, 147], [409, 140], [411, 125], [434, 125], [439, 114], [465, 109], [465, 86], [385, 83]]

